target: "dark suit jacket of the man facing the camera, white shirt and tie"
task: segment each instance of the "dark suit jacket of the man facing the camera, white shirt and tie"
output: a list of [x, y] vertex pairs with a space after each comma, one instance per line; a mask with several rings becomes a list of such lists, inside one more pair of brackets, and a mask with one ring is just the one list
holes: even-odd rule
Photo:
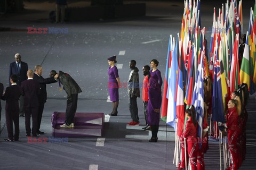
[[[28, 64], [25, 62], [20, 62], [20, 74], [18, 73], [18, 67], [16, 62], [12, 62], [9, 67], [9, 81], [12, 74], [18, 75], [17, 84], [21, 86], [21, 82], [27, 80], [27, 71], [28, 71]], [[9, 83], [11, 86], [11, 83]]]

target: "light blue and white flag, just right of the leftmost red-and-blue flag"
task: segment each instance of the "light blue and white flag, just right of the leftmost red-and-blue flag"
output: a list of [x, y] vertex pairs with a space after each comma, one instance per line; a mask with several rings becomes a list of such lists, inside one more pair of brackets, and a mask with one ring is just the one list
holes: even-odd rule
[[174, 122], [176, 118], [176, 102], [175, 102], [175, 91], [177, 83], [177, 72], [178, 72], [178, 57], [179, 57], [179, 33], [177, 35], [176, 45], [172, 53], [171, 72], [169, 74], [169, 97], [167, 106], [167, 118], [166, 123], [171, 125], [175, 131], [176, 124]]

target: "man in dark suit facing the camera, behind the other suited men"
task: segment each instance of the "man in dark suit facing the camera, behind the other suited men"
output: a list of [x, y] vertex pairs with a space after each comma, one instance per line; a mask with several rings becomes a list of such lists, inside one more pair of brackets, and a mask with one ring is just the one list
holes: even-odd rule
[[[12, 74], [18, 75], [17, 84], [21, 86], [21, 82], [27, 80], [28, 64], [21, 61], [21, 55], [19, 53], [14, 56], [15, 62], [12, 62], [9, 67], [9, 80]], [[11, 86], [11, 83], [9, 84]], [[20, 116], [24, 117], [24, 98], [20, 96]]]

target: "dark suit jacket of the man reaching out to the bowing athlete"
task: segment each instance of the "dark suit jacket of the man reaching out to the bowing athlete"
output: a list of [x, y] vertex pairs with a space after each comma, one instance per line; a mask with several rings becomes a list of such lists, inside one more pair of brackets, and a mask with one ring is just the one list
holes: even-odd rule
[[54, 78], [46, 78], [44, 79], [42, 75], [37, 75], [34, 73], [34, 80], [39, 83], [40, 86], [40, 94], [38, 95], [39, 103], [46, 103], [47, 92], [46, 92], [46, 84], [51, 84], [57, 82]]

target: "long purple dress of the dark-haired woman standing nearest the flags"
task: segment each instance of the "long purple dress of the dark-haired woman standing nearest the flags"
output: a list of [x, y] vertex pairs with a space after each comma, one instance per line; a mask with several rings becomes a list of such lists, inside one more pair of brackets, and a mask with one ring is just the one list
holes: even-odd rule
[[160, 109], [162, 103], [161, 89], [158, 84], [157, 75], [153, 75], [149, 79], [148, 89], [148, 107], [147, 107], [147, 119], [149, 125], [159, 125], [160, 114], [156, 113], [154, 109]]

